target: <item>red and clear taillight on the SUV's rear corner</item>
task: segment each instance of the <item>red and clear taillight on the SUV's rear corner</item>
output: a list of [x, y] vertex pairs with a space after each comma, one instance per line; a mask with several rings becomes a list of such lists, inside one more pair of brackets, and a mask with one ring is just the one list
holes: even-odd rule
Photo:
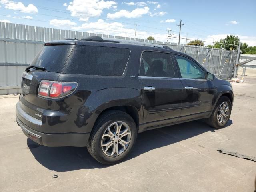
[[73, 82], [56, 82], [42, 80], [38, 88], [38, 96], [46, 98], [62, 98], [72, 94], [77, 87]]

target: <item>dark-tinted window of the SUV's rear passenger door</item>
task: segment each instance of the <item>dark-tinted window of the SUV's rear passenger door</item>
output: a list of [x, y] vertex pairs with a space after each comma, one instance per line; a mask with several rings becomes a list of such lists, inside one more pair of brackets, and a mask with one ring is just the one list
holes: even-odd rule
[[143, 52], [140, 76], [175, 77], [170, 54], [152, 51]]

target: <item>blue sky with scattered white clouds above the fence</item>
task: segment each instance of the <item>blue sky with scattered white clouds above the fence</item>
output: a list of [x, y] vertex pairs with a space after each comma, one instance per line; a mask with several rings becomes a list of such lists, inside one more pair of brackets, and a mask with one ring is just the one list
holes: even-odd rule
[[[237, 35], [256, 46], [256, 0], [0, 0], [0, 21], [116, 36], [210, 42]], [[188, 40], [187, 42], [189, 42]]]

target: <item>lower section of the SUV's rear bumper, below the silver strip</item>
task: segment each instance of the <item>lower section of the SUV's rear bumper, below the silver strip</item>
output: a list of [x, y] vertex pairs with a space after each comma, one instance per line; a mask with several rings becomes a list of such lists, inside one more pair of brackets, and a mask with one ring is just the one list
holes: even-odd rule
[[34, 142], [49, 146], [49, 147], [61, 147], [61, 146], [74, 146], [84, 147], [87, 146], [90, 133], [60, 133], [60, 134], [47, 134], [38, 132], [26, 126], [16, 115], [16, 121], [22, 128], [23, 133], [33, 140]]

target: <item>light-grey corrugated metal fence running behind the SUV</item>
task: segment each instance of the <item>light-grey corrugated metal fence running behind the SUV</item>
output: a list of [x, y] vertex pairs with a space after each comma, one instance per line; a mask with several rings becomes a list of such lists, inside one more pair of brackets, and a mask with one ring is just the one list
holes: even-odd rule
[[[20, 93], [21, 75], [30, 64], [43, 43], [66, 38], [101, 36], [134, 40], [134, 38], [94, 34], [71, 30], [43, 28], [22, 24], [0, 22], [0, 95]], [[167, 44], [167, 42], [135, 39], [139, 42]], [[168, 43], [172, 49], [192, 56], [209, 72], [220, 78], [230, 79], [233, 75], [236, 51], [212, 49], [198, 46]]]

